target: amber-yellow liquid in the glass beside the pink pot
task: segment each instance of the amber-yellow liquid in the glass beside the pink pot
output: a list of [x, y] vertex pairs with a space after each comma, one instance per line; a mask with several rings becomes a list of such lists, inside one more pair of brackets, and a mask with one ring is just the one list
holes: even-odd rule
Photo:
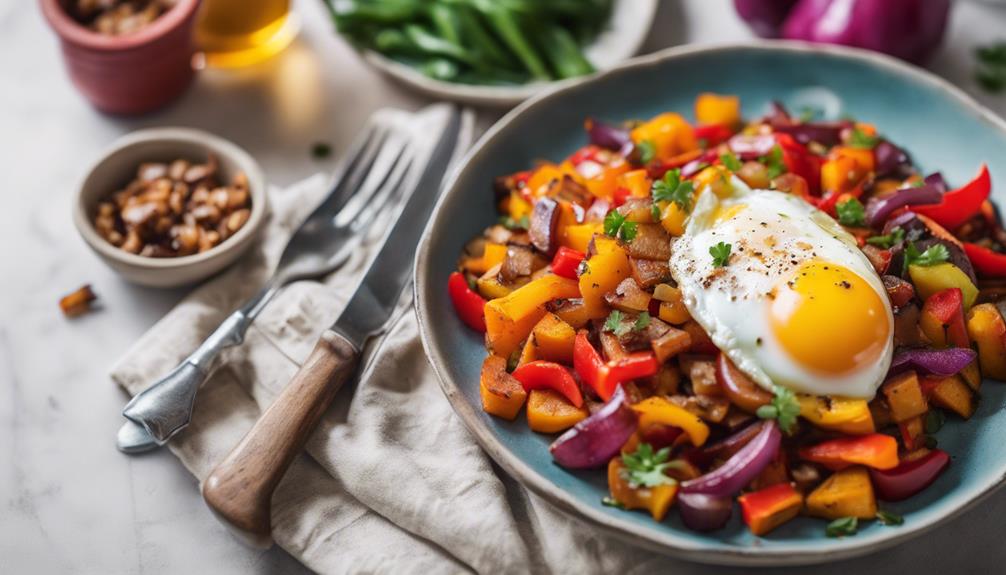
[[207, 65], [237, 67], [282, 51], [297, 29], [290, 0], [203, 0], [195, 39]]

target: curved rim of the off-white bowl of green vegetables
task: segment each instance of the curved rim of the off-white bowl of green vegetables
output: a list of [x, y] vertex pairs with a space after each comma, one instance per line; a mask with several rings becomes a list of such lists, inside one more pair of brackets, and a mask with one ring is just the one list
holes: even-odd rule
[[476, 106], [515, 106], [544, 91], [577, 83], [582, 79], [595, 77], [609, 70], [616, 69], [625, 62], [630, 61], [635, 54], [639, 53], [639, 50], [643, 47], [643, 44], [646, 42], [646, 39], [650, 34], [650, 30], [653, 28], [659, 2], [658, 0], [629, 1], [641, 3], [645, 2], [642, 6], [633, 6], [638, 13], [642, 14], [642, 21], [644, 22], [644, 25], [639, 27], [638, 36], [634, 38], [632, 43], [630, 43], [631, 49], [629, 50], [629, 53], [622, 61], [616, 63], [615, 65], [599, 69], [594, 73], [580, 77], [557, 79], [546, 82], [525, 83], [513, 86], [451, 82], [432, 78], [425, 75], [423, 72], [420, 72], [415, 68], [395, 61], [394, 59], [389, 58], [375, 50], [362, 48], [358, 51], [367, 63], [377, 68], [383, 74], [428, 95]]

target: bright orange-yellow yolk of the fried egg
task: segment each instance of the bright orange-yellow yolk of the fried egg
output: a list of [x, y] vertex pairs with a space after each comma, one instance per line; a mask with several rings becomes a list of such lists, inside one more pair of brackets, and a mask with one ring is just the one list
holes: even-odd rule
[[842, 375], [867, 366], [880, 358], [891, 337], [881, 295], [841, 265], [808, 261], [774, 295], [773, 334], [810, 370]]

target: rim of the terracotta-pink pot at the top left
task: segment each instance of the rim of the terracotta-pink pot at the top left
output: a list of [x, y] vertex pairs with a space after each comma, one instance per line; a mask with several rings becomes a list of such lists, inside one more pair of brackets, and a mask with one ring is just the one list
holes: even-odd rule
[[187, 20], [200, 0], [178, 0], [174, 8], [135, 34], [106, 36], [89, 30], [70, 17], [59, 0], [39, 0], [49, 25], [63, 41], [97, 51], [124, 51], [139, 48], [174, 30]]

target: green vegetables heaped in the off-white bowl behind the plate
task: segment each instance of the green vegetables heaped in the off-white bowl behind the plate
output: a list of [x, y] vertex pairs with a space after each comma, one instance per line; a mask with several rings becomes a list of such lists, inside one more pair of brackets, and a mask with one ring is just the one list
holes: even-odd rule
[[436, 79], [520, 84], [588, 74], [613, 0], [325, 0], [338, 30]]

